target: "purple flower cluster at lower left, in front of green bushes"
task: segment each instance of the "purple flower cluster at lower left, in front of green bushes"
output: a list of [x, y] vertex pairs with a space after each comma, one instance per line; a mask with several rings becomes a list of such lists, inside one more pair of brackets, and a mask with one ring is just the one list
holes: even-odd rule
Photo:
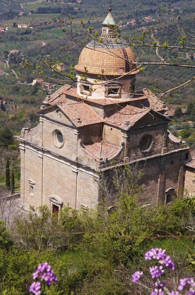
[[51, 282], [55, 286], [57, 284], [57, 276], [53, 273], [53, 269], [47, 262], [40, 264], [37, 270], [33, 273], [33, 280], [37, 279], [37, 282], [33, 282], [29, 288], [29, 291], [34, 295], [41, 294], [41, 282], [50, 286]]

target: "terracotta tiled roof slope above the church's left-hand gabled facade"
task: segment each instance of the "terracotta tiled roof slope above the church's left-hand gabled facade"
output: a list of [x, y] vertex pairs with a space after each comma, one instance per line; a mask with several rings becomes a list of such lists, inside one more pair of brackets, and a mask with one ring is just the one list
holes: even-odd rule
[[87, 104], [83, 102], [73, 104], [59, 104], [57, 105], [76, 127], [91, 125], [102, 122], [102, 119], [92, 110]]

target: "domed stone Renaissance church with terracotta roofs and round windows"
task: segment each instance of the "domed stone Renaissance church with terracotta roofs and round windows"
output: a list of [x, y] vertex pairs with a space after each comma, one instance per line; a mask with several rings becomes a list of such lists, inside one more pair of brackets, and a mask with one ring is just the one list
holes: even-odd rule
[[[35, 128], [23, 128], [21, 202], [94, 207], [99, 200], [99, 174], [113, 165], [143, 169], [142, 197], [171, 202], [184, 188], [189, 148], [168, 130], [165, 103], [149, 89], [135, 92], [135, 57], [116, 40], [109, 13], [102, 42], [91, 40], [81, 51], [77, 88], [64, 85], [47, 96]], [[114, 164], [113, 164], [114, 163]]]

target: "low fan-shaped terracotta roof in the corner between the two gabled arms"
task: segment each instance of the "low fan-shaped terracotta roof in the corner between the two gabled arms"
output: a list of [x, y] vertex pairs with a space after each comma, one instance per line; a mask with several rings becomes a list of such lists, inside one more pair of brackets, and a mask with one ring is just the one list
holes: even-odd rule
[[106, 143], [95, 143], [93, 145], [83, 146], [85, 152], [93, 158], [113, 158], [121, 150], [121, 147], [116, 147]]

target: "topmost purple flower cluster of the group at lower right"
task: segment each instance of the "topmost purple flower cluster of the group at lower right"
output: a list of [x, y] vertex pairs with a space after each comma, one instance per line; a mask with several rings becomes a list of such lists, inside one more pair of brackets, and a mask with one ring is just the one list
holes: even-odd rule
[[175, 265], [172, 262], [169, 255], [167, 255], [166, 250], [161, 248], [152, 248], [151, 250], [147, 251], [145, 254], [146, 260], [156, 259], [158, 263], [168, 267], [171, 270], [174, 270]]

